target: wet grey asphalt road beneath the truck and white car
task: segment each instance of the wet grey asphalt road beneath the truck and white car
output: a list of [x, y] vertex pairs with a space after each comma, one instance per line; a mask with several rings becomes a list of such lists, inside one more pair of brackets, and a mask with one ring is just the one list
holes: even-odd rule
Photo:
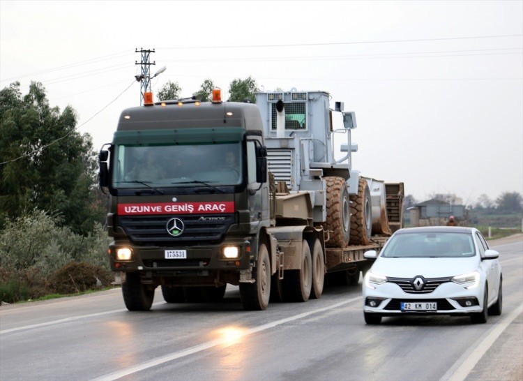
[[[506, 242], [506, 241], [505, 241]], [[503, 314], [386, 317], [367, 326], [358, 287], [243, 311], [220, 304], [131, 313], [118, 289], [0, 307], [0, 380], [522, 380], [523, 237], [494, 242]]]

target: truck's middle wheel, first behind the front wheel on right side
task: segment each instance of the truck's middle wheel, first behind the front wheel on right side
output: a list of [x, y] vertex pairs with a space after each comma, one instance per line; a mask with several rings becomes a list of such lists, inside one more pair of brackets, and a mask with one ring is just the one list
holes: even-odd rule
[[285, 271], [283, 292], [287, 301], [308, 301], [312, 290], [312, 257], [307, 241], [301, 244], [301, 269]]

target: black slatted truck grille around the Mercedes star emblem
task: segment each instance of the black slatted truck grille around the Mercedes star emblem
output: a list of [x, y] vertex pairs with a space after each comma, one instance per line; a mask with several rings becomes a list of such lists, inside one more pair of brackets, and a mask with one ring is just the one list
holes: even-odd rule
[[[167, 233], [167, 221], [179, 218], [185, 228], [178, 237]], [[204, 221], [201, 218], [213, 218], [202, 215], [167, 215], [167, 216], [120, 216], [118, 224], [125, 230], [131, 241], [139, 244], [213, 244], [222, 240], [223, 234], [234, 221], [234, 214], [220, 214], [220, 221]]]

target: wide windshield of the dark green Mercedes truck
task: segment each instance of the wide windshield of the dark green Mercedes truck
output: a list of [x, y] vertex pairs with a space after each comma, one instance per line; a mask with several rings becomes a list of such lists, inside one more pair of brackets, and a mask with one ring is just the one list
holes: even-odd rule
[[241, 184], [240, 142], [222, 144], [116, 145], [114, 188]]

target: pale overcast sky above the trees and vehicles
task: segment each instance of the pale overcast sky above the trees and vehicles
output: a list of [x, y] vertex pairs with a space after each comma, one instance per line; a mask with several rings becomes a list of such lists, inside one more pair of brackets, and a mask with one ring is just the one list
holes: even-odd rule
[[0, 0], [0, 88], [42, 82], [98, 151], [157, 92], [211, 79], [327, 91], [356, 112], [352, 167], [418, 202], [523, 194], [523, 1]]

